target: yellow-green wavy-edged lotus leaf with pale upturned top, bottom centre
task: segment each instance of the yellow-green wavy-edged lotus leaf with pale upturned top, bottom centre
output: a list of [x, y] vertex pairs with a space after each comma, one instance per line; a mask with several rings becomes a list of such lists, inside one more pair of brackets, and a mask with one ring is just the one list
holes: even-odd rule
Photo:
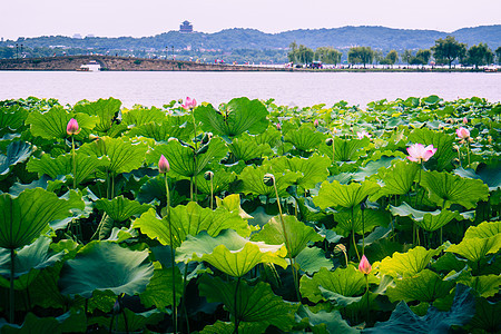
[[233, 229], [210, 237], [206, 232], [188, 236], [176, 252], [177, 262], [205, 261], [234, 277], [242, 277], [259, 263], [274, 263], [287, 267], [284, 245], [249, 242]]

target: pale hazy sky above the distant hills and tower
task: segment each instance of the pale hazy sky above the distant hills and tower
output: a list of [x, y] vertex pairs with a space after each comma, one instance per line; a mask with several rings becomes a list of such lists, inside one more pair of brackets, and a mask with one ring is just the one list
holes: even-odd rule
[[0, 37], [6, 39], [73, 33], [154, 36], [177, 30], [184, 20], [203, 32], [344, 26], [451, 32], [501, 24], [501, 0], [11, 0], [0, 8]]

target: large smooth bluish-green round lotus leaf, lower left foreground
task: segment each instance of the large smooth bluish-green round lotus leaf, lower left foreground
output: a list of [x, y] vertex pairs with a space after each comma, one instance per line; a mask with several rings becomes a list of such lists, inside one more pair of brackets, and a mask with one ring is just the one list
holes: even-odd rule
[[144, 263], [148, 250], [132, 252], [116, 243], [94, 242], [68, 261], [59, 286], [62, 294], [89, 298], [92, 292], [111, 291], [135, 295], [145, 291], [154, 274], [151, 263]]

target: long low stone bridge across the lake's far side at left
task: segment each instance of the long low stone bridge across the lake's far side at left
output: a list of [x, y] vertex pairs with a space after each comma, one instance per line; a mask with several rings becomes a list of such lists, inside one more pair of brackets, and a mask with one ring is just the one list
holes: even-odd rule
[[202, 63], [195, 61], [145, 59], [115, 56], [58, 56], [0, 59], [0, 70], [76, 71], [97, 62], [108, 71], [292, 71], [292, 68]]

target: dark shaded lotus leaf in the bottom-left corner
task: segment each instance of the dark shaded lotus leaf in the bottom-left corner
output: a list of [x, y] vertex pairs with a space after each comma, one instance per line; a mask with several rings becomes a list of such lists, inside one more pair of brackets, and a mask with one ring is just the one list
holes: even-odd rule
[[38, 317], [31, 312], [24, 317], [22, 325], [1, 324], [2, 333], [68, 333], [87, 330], [86, 316], [82, 311], [68, 311], [58, 317]]

